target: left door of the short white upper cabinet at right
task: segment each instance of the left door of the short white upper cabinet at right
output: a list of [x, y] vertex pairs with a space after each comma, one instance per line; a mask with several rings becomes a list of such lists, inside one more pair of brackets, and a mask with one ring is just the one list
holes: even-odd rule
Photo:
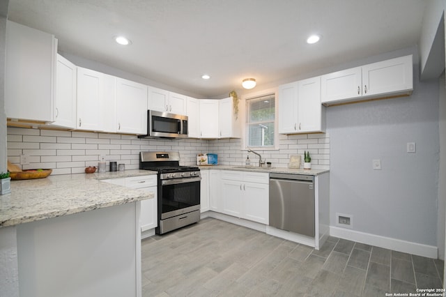
[[321, 77], [321, 102], [332, 102], [362, 96], [360, 67], [337, 71]]

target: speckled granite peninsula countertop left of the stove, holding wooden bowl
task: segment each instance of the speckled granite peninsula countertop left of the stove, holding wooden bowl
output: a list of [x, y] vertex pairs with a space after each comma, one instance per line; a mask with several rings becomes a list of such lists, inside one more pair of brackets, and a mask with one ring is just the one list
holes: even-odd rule
[[28, 181], [11, 181], [11, 193], [0, 195], [0, 227], [153, 199], [151, 192], [101, 181], [151, 174], [157, 173], [125, 170], [101, 174], [50, 175]]

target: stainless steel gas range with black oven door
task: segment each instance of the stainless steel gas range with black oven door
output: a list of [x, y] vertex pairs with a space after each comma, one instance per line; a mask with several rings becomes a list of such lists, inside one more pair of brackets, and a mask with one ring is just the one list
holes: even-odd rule
[[200, 169], [180, 166], [180, 153], [141, 152], [139, 169], [158, 172], [158, 227], [156, 234], [200, 220]]

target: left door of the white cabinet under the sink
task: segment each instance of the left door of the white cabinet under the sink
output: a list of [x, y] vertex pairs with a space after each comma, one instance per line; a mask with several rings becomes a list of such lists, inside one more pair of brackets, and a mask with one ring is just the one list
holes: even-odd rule
[[240, 181], [222, 180], [222, 200], [222, 213], [241, 218], [242, 184], [240, 183]]

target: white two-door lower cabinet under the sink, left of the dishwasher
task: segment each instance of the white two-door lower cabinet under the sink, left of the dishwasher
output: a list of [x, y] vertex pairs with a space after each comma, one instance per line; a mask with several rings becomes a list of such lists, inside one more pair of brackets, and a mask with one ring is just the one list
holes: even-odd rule
[[224, 170], [221, 187], [222, 213], [268, 224], [268, 174]]

